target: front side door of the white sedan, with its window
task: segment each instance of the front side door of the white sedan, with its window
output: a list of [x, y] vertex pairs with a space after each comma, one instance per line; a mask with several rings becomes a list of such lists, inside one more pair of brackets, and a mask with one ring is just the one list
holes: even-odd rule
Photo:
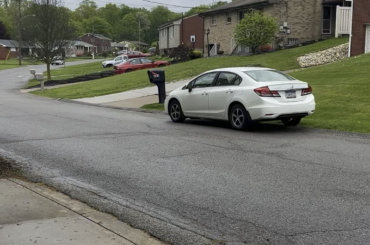
[[209, 93], [217, 72], [207, 73], [193, 80], [191, 92], [184, 91], [182, 109], [186, 116], [207, 117], [209, 113]]

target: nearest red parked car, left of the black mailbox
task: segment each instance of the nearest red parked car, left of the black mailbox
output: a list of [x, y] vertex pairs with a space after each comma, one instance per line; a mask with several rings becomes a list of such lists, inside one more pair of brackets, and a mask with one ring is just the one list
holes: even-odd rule
[[113, 67], [114, 74], [122, 74], [136, 70], [165, 67], [170, 65], [167, 61], [152, 61], [147, 58], [129, 59]]

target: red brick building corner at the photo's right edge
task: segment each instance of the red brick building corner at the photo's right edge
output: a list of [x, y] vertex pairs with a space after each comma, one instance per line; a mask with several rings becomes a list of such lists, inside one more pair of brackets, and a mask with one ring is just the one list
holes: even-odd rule
[[351, 56], [370, 53], [370, 1], [353, 0]]

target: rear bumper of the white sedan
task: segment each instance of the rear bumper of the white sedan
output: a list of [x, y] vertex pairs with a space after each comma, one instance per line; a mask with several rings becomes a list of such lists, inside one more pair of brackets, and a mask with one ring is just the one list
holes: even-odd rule
[[263, 101], [263, 103], [248, 107], [253, 121], [281, 120], [287, 117], [305, 117], [315, 112], [316, 103], [313, 96], [300, 102], [277, 103]]

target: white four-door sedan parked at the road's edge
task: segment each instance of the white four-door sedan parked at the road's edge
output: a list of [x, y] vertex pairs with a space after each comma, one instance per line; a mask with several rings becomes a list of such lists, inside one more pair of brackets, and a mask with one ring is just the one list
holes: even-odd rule
[[234, 129], [281, 120], [296, 126], [315, 111], [312, 88], [268, 68], [236, 67], [205, 72], [172, 91], [165, 110], [174, 122], [186, 118], [230, 121]]

